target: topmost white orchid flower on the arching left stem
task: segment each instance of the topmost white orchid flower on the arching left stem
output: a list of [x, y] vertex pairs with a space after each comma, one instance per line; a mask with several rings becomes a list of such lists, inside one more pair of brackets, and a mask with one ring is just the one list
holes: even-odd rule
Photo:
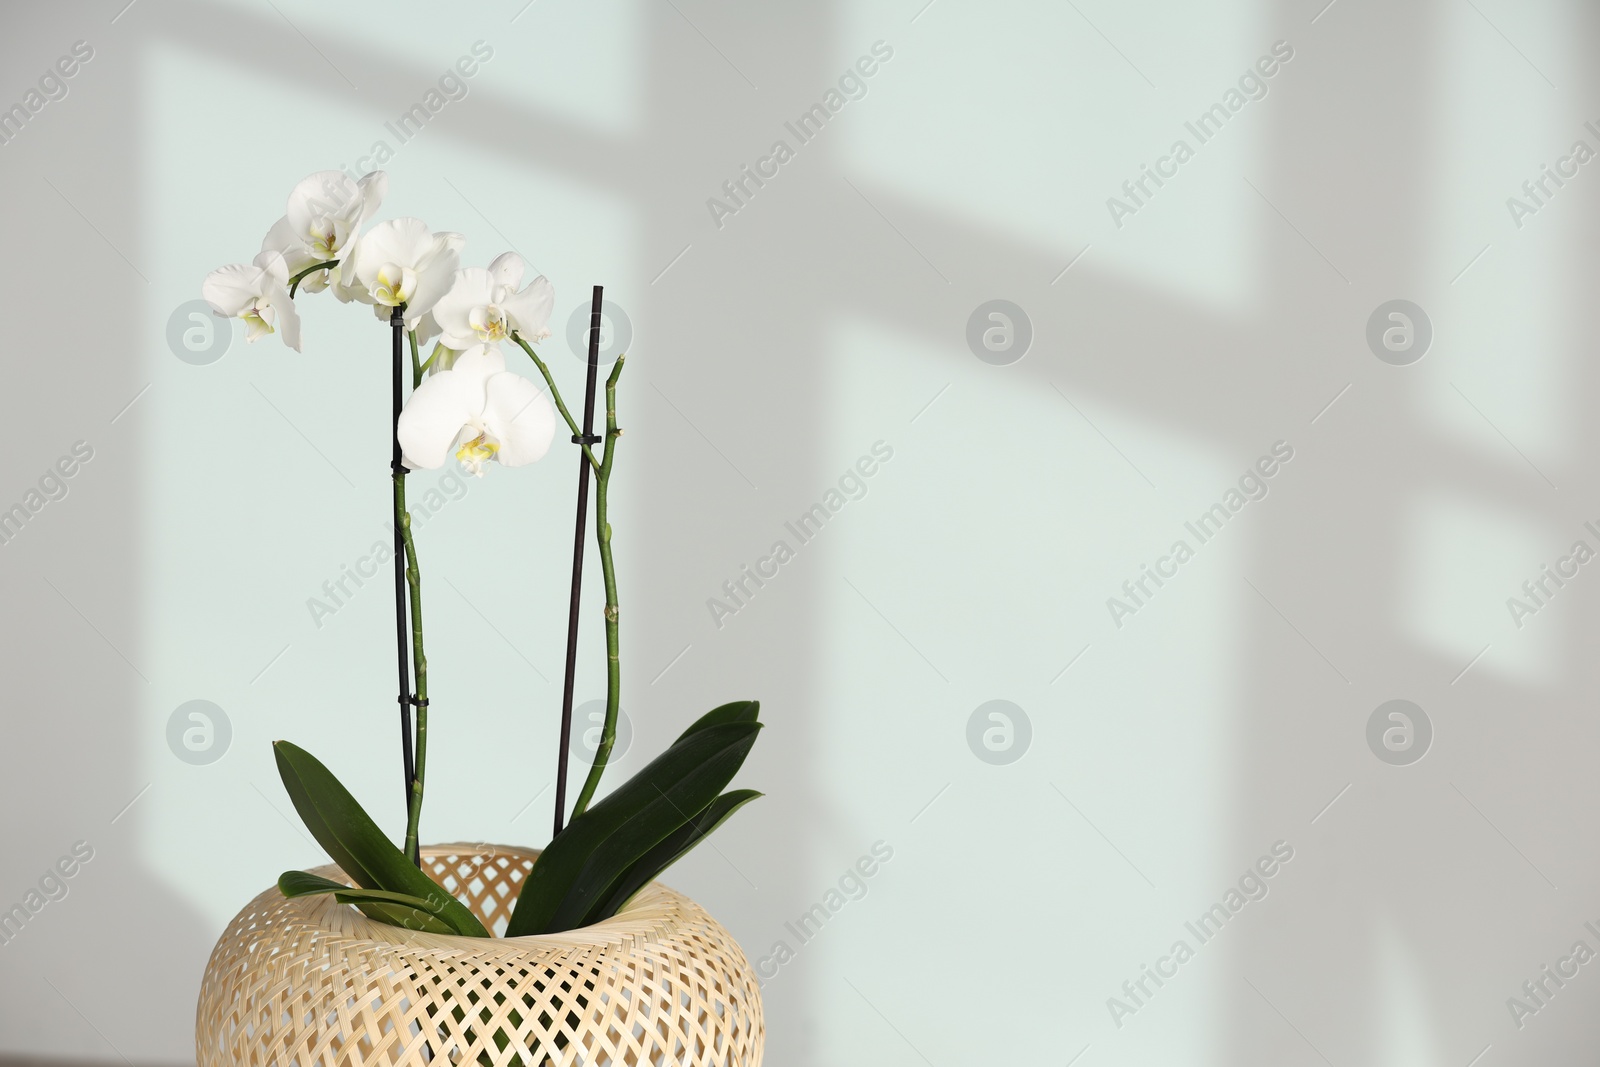
[[[318, 262], [342, 264], [355, 251], [362, 226], [378, 211], [386, 192], [389, 174], [384, 171], [373, 171], [360, 181], [350, 181], [341, 171], [317, 171], [290, 192], [288, 208], [267, 230], [261, 250], [282, 253], [290, 275]], [[307, 275], [301, 285], [320, 293], [330, 283], [339, 299], [352, 298], [347, 277], [341, 285], [339, 267]]]

